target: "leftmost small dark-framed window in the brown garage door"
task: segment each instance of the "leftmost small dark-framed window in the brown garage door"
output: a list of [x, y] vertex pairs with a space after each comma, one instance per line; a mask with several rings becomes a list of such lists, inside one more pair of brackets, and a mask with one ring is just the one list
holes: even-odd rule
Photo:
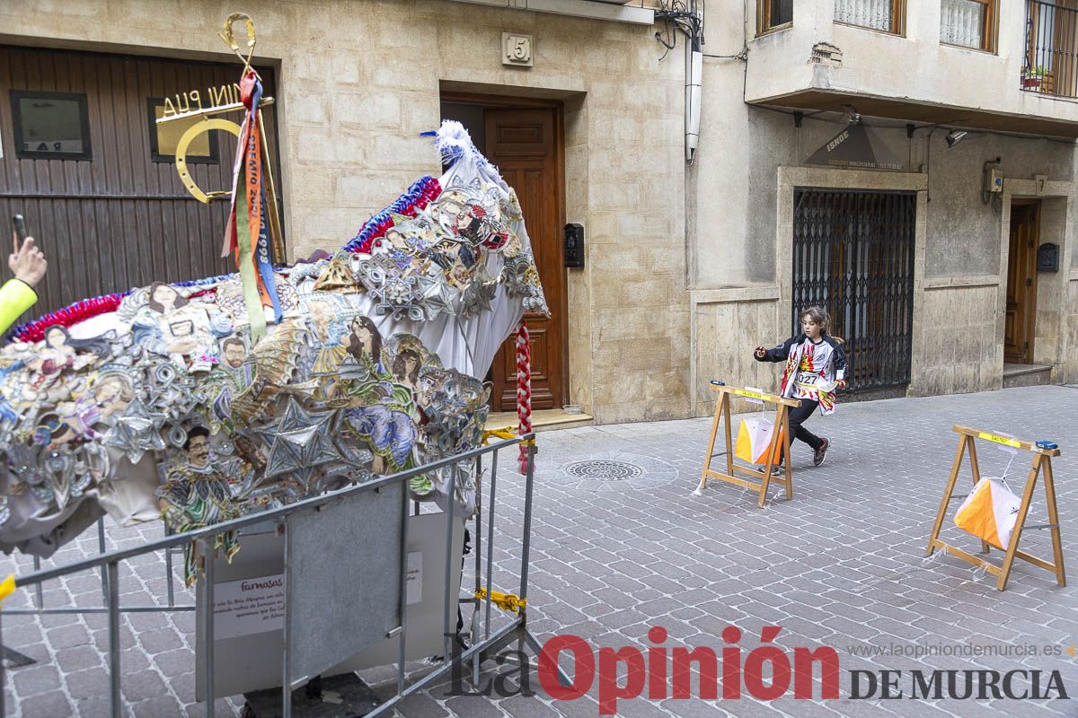
[[89, 159], [89, 111], [82, 93], [11, 90], [15, 156]]

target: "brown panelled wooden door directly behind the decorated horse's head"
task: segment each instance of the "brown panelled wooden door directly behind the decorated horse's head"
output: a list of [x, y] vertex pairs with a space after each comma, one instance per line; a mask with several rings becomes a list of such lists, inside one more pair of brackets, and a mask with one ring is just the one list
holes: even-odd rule
[[[531, 337], [531, 408], [565, 405], [567, 382], [566, 278], [562, 247], [562, 141], [554, 108], [487, 110], [486, 154], [502, 178], [516, 189], [550, 306], [547, 319], [526, 315]], [[516, 407], [514, 340], [507, 341], [493, 366], [495, 411]]]

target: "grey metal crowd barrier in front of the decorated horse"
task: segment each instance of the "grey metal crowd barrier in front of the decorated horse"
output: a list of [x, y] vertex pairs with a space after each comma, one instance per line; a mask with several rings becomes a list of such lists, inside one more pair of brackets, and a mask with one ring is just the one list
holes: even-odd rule
[[[523, 526], [521, 529], [521, 568], [520, 568], [520, 593], [517, 595], [513, 594], [498, 594], [498, 592], [493, 591], [490, 587], [490, 581], [493, 578], [493, 563], [494, 563], [494, 544], [495, 544], [495, 507], [496, 507], [496, 496], [497, 496], [497, 482], [498, 482], [498, 452], [508, 447], [515, 447], [517, 445], [524, 444], [527, 446], [528, 451], [528, 464], [527, 471], [525, 474], [525, 484], [524, 484], [524, 512], [523, 512]], [[32, 609], [13, 609], [6, 611], [0, 611], [0, 616], [3, 613], [8, 615], [47, 615], [47, 614], [107, 614], [109, 617], [109, 651], [108, 651], [108, 673], [109, 673], [109, 692], [110, 692], [110, 706], [111, 715], [119, 717], [123, 715], [123, 701], [121, 694], [121, 681], [122, 675], [120, 670], [120, 615], [123, 613], [155, 613], [155, 611], [193, 611], [195, 610], [194, 605], [176, 605], [172, 595], [172, 586], [169, 582], [168, 586], [168, 605], [150, 605], [150, 606], [121, 606], [120, 604], [120, 563], [123, 561], [128, 561], [140, 555], [146, 555], [148, 553], [154, 553], [157, 551], [165, 551], [165, 560], [167, 571], [169, 572], [169, 581], [171, 581], [171, 551], [181, 549], [186, 545], [197, 544], [203, 551], [203, 555], [207, 558], [205, 563], [205, 573], [198, 579], [197, 591], [199, 592], [199, 602], [205, 608], [201, 611], [198, 620], [201, 622], [199, 629], [204, 636], [203, 645], [207, 648], [205, 649], [205, 660], [202, 665], [203, 671], [203, 685], [205, 686], [205, 707], [206, 715], [213, 716], [213, 680], [215, 680], [215, 670], [213, 670], [213, 622], [215, 622], [215, 611], [213, 611], [213, 545], [216, 537], [224, 532], [238, 531], [245, 527], [251, 527], [255, 524], [264, 524], [266, 522], [274, 522], [278, 526], [278, 531], [282, 531], [288, 536], [289, 521], [292, 517], [304, 512], [304, 511], [316, 511], [322, 507], [334, 504], [335, 502], [341, 502], [345, 497], [355, 496], [357, 494], [364, 494], [368, 492], [375, 492], [384, 487], [389, 487], [398, 482], [406, 482], [413, 477], [427, 474], [440, 468], [451, 467], [455, 464], [466, 461], [475, 462], [475, 477], [476, 477], [476, 503], [475, 503], [475, 586], [473, 596], [460, 597], [458, 603], [460, 604], [474, 604], [474, 611], [472, 617], [471, 627], [471, 646], [464, 651], [453, 650], [452, 640], [454, 639], [456, 632], [451, 631], [451, 587], [453, 581], [448, 580], [452, 575], [453, 566], [455, 561], [460, 561], [461, 557], [454, 554], [454, 544], [452, 540], [446, 540], [445, 546], [445, 588], [444, 588], [444, 601], [443, 601], [443, 636], [444, 636], [444, 651], [441, 659], [441, 664], [431, 673], [423, 676], [415, 682], [405, 687], [405, 639], [407, 636], [407, 610], [406, 610], [406, 580], [407, 580], [407, 530], [409, 521], [407, 518], [412, 515], [412, 498], [411, 492], [407, 491], [407, 484], [404, 484], [404, 490], [401, 492], [401, 511], [403, 520], [401, 522], [401, 550], [400, 550], [400, 625], [393, 628], [387, 633], [387, 637], [396, 637], [399, 640], [399, 658], [397, 661], [397, 691], [396, 694], [389, 700], [381, 703], [374, 710], [368, 714], [368, 718], [376, 718], [392, 710], [402, 700], [424, 690], [428, 686], [431, 686], [440, 678], [445, 676], [455, 666], [462, 667], [469, 662], [472, 667], [473, 680], [478, 681], [480, 663], [485, 660], [487, 656], [494, 654], [496, 651], [500, 650], [502, 647], [508, 646], [512, 643], [517, 643], [520, 645], [527, 644], [536, 653], [538, 654], [540, 650], [539, 643], [535, 637], [528, 632], [527, 629], [527, 594], [528, 594], [528, 562], [529, 562], [529, 550], [530, 550], [530, 534], [531, 534], [531, 507], [533, 507], [533, 483], [534, 483], [534, 457], [535, 457], [535, 442], [534, 435], [528, 434], [522, 437], [499, 441], [497, 444], [480, 447], [471, 451], [467, 451], [448, 459], [443, 459], [441, 461], [425, 464], [423, 466], [409, 469], [406, 471], [400, 471], [391, 476], [381, 477], [375, 480], [362, 483], [359, 485], [347, 487], [338, 491], [330, 492], [320, 496], [315, 496], [312, 498], [306, 498], [304, 501], [290, 504], [288, 506], [272, 509], [259, 513], [252, 513], [249, 516], [241, 517], [239, 519], [234, 519], [232, 521], [226, 521], [205, 529], [199, 529], [196, 531], [190, 531], [182, 534], [171, 534], [165, 537], [146, 544], [143, 546], [130, 549], [121, 549], [109, 552], [102, 552], [100, 555], [85, 559], [82, 561], [77, 561], [63, 566], [50, 567], [44, 569], [34, 571], [34, 573], [20, 576], [16, 578], [17, 588], [29, 588], [34, 587], [37, 591], [37, 607]], [[490, 460], [490, 475], [489, 475], [489, 495], [488, 495], [488, 506], [484, 507], [483, 503], [483, 456], [486, 454], [492, 455]], [[446, 535], [452, 538], [454, 529], [454, 512], [456, 508], [456, 502], [452, 499], [453, 494], [451, 492], [451, 501], [447, 502], [447, 509], [444, 511], [446, 517]], [[484, 545], [482, 543], [482, 529], [483, 529], [483, 512], [487, 512], [487, 537], [485, 544], [485, 555], [484, 555]], [[99, 545], [103, 551], [105, 536], [103, 536], [103, 524], [99, 524]], [[286, 576], [290, 569], [292, 557], [291, 553], [291, 541], [285, 540], [284, 543], [284, 561], [285, 561], [285, 573]], [[485, 561], [485, 588], [481, 585], [481, 579], [484, 577], [484, 561]], [[34, 566], [40, 565], [34, 562]], [[102, 588], [106, 594], [105, 607], [64, 607], [64, 608], [45, 608], [41, 602], [41, 586], [43, 582], [59, 579], [65, 576], [75, 574], [83, 571], [88, 571], [93, 568], [100, 568], [102, 575]], [[302, 632], [302, 616], [293, 616], [290, 613], [289, 601], [287, 595], [288, 583], [285, 582], [284, 590], [285, 595], [285, 630], [284, 630], [284, 640], [281, 645], [281, 700], [282, 700], [282, 716], [289, 718], [292, 715], [292, 690], [298, 686], [293, 686], [293, 681], [289, 676], [289, 652], [292, 650], [292, 640], [295, 635]], [[482, 597], [481, 597], [482, 596]], [[492, 605], [497, 604], [510, 608], [512, 614], [511, 620], [492, 631]], [[485, 610], [484, 610], [485, 609]], [[482, 617], [482, 618], [481, 618]], [[454, 617], [455, 618], [455, 617]], [[480, 631], [482, 629], [482, 631]], [[480, 633], [482, 635], [480, 636]], [[2, 624], [0, 624], [0, 647], [3, 646], [3, 630]], [[9, 649], [4, 649], [5, 651]], [[559, 671], [561, 672], [561, 671]], [[6, 671], [3, 667], [3, 661], [0, 660], [0, 716], [6, 715], [4, 701], [4, 680], [6, 678]], [[563, 681], [566, 684], [568, 679], [562, 676]]]

